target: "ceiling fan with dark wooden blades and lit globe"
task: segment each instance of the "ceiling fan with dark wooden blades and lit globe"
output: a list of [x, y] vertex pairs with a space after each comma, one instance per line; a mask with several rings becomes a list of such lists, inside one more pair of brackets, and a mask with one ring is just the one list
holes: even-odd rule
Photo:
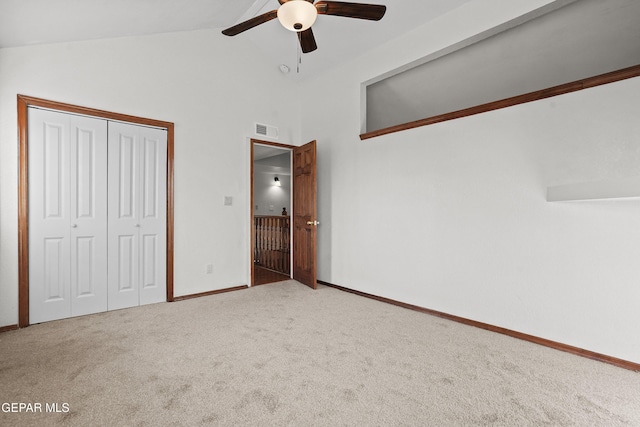
[[290, 31], [298, 33], [298, 40], [303, 53], [313, 52], [318, 48], [311, 26], [318, 15], [344, 16], [346, 18], [368, 19], [379, 21], [387, 7], [379, 4], [348, 3], [342, 1], [314, 0], [278, 0], [280, 7], [222, 31], [225, 36], [235, 36], [272, 19], [278, 18], [280, 23]]

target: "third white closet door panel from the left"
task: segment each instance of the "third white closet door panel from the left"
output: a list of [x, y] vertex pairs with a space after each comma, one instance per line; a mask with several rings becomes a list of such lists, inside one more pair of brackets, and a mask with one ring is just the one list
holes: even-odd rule
[[139, 304], [139, 186], [137, 126], [109, 123], [109, 310]]

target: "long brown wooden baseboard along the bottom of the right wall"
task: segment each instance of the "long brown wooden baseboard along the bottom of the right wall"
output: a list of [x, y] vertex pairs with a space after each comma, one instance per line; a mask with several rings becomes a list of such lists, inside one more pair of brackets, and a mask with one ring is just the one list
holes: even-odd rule
[[618, 366], [620, 368], [629, 369], [631, 371], [640, 372], [640, 363], [630, 362], [624, 359], [618, 359], [617, 357], [607, 356], [606, 354], [596, 353], [590, 350], [574, 347], [568, 344], [563, 344], [557, 341], [551, 341], [545, 338], [536, 337], [534, 335], [525, 334], [522, 332], [514, 331], [511, 329], [502, 328], [500, 326], [490, 325], [488, 323], [477, 322], [475, 320], [466, 319], [464, 317], [454, 316], [452, 314], [443, 313], [441, 311], [431, 310], [429, 308], [420, 307], [417, 305], [407, 304], [404, 302], [392, 300], [378, 295], [368, 294], [366, 292], [356, 291], [354, 289], [345, 288], [343, 286], [334, 285], [332, 283], [323, 282], [318, 280], [318, 283], [329, 286], [344, 292], [349, 292], [366, 298], [375, 299], [377, 301], [385, 302], [388, 304], [397, 305], [399, 307], [408, 308], [409, 310], [419, 311], [421, 313], [430, 314], [432, 316], [441, 317], [447, 320], [453, 320], [454, 322], [464, 323], [465, 325], [475, 326], [476, 328], [485, 329], [487, 331], [497, 332], [499, 334], [508, 335], [513, 338], [518, 338], [524, 341], [529, 341], [534, 344], [543, 345], [556, 350], [564, 351], [567, 353], [575, 354], [589, 359], [597, 360], [600, 362], [608, 363], [610, 365]]

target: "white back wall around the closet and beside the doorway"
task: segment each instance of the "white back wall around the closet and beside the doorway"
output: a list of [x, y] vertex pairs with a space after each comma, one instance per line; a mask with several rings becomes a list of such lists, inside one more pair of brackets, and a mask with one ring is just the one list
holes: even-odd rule
[[278, 126], [282, 143], [299, 140], [284, 108], [295, 86], [263, 63], [217, 30], [0, 50], [0, 326], [18, 316], [16, 95], [175, 123], [180, 296], [248, 283], [253, 123]]

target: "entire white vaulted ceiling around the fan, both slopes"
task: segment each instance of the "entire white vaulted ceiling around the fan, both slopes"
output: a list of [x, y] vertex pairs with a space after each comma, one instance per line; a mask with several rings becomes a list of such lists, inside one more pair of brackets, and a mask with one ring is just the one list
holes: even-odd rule
[[[363, 1], [387, 6], [378, 22], [320, 15], [313, 26], [318, 50], [302, 55], [301, 74], [320, 73], [469, 1]], [[278, 6], [277, 0], [0, 0], [0, 48], [222, 30]], [[296, 72], [297, 37], [277, 20], [235, 37], [248, 38], [264, 52], [265, 66], [286, 64]]]

